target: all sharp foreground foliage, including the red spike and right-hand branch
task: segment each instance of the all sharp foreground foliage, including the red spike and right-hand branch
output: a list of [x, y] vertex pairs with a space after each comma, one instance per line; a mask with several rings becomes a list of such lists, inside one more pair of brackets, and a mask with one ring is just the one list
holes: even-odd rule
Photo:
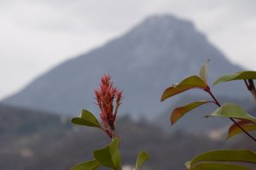
[[[220, 105], [218, 99], [212, 94], [211, 88], [207, 82], [207, 67], [208, 60], [205, 65], [201, 67], [199, 76], [191, 76], [183, 79], [182, 82], [173, 84], [166, 88], [162, 94], [161, 101], [171, 98], [177, 94], [185, 91], [198, 88], [209, 94], [211, 100], [200, 100], [192, 102], [188, 105], [183, 105], [172, 111], [171, 122], [172, 125], [180, 118], [185, 116], [189, 111], [194, 110], [201, 105], [214, 104], [218, 105], [216, 111], [206, 117], [218, 116], [223, 118], [230, 118], [233, 124], [228, 131], [228, 139], [236, 136], [239, 133], [246, 133], [250, 139], [256, 142], [256, 139], [249, 133], [256, 130], [256, 117], [250, 115], [241, 106], [225, 103]], [[256, 99], [256, 90], [253, 84], [253, 79], [256, 79], [255, 71], [241, 71], [233, 75], [219, 77], [214, 85], [220, 82], [229, 82], [233, 80], [243, 80], [246, 83], [247, 89], [253, 94]], [[96, 127], [107, 133], [112, 140], [106, 147], [95, 150], [93, 153], [94, 159], [85, 161], [72, 167], [72, 170], [96, 170], [99, 167], [108, 167], [114, 170], [121, 170], [121, 156], [119, 150], [120, 137], [115, 131], [115, 120], [118, 113], [119, 105], [122, 100], [122, 90], [113, 87], [113, 82], [110, 81], [108, 75], [104, 75], [101, 79], [100, 88], [95, 90], [96, 103], [100, 110], [100, 123], [96, 116], [90, 111], [82, 110], [81, 116], [74, 117], [72, 122], [78, 125], [87, 127]], [[135, 170], [139, 170], [145, 161], [148, 161], [148, 154], [142, 150], [137, 156], [137, 163]], [[234, 169], [247, 170], [247, 163], [256, 166], [256, 152], [252, 150], [212, 150], [195, 156], [191, 161], [185, 163], [185, 167], [189, 170], [203, 170], [203, 169]]]

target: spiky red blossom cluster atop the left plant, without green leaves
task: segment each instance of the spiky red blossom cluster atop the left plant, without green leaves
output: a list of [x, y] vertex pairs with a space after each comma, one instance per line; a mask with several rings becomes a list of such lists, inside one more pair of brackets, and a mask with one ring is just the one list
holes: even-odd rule
[[117, 136], [114, 133], [114, 122], [119, 105], [121, 105], [123, 91], [113, 87], [113, 82], [110, 79], [109, 75], [104, 75], [101, 79], [100, 88], [95, 90], [95, 94], [105, 132], [112, 139]]

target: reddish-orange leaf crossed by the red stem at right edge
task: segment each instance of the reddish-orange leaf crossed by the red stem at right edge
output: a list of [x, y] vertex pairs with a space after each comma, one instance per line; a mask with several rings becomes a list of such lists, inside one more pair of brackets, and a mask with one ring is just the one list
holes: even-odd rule
[[[247, 132], [256, 130], [256, 123], [249, 121], [249, 120], [241, 120], [237, 122], [243, 129], [245, 129]], [[229, 128], [229, 135], [227, 139], [230, 139], [231, 137], [235, 136], [236, 134], [243, 133], [240, 127], [234, 123]]]

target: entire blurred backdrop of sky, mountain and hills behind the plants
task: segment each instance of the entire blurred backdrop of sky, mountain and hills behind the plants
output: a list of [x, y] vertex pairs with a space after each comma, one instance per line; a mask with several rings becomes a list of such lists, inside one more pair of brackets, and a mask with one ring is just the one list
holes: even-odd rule
[[[171, 126], [172, 110], [209, 99], [204, 92], [160, 97], [207, 59], [211, 85], [255, 71], [255, 7], [253, 0], [0, 1], [0, 169], [69, 169], [108, 144], [106, 134], [70, 122], [82, 109], [99, 115], [94, 89], [103, 74], [124, 90], [117, 123], [124, 169], [139, 150], [148, 151], [143, 169], [151, 170], [184, 169], [202, 151], [253, 149], [243, 135], [225, 140], [229, 120], [203, 118], [214, 105]], [[255, 116], [243, 82], [212, 91]]]

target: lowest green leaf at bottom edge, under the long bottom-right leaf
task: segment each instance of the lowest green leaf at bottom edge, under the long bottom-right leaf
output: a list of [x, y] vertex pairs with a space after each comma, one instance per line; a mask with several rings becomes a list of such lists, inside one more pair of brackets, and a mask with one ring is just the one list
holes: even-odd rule
[[199, 163], [189, 170], [249, 170], [248, 167], [227, 163]]

